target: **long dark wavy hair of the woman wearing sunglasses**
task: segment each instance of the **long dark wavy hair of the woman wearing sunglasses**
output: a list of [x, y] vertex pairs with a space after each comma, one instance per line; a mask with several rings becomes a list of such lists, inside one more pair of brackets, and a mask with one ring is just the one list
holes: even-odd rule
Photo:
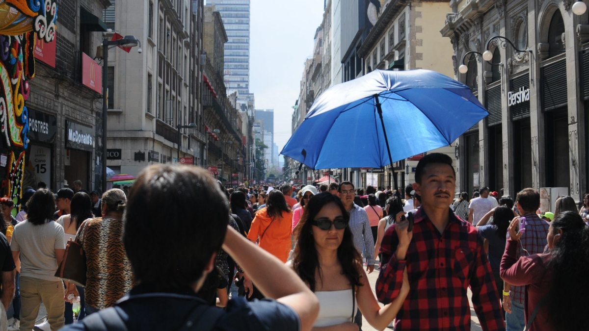
[[[294, 247], [293, 269], [303, 282], [309, 284], [309, 288], [315, 292], [315, 272], [319, 270], [319, 278], [323, 282], [323, 272], [319, 266], [319, 255], [315, 247], [311, 220], [315, 219], [319, 211], [326, 204], [336, 204], [342, 211], [344, 219], [349, 221], [350, 216], [343, 207], [342, 200], [329, 192], [319, 193], [309, 200], [303, 216], [300, 218], [299, 226], [294, 236], [297, 243]], [[342, 243], [337, 247], [337, 261], [342, 266], [342, 273], [348, 278], [352, 286], [360, 286], [360, 268], [362, 268], [362, 256], [356, 250], [352, 239], [350, 227], [343, 230]]]

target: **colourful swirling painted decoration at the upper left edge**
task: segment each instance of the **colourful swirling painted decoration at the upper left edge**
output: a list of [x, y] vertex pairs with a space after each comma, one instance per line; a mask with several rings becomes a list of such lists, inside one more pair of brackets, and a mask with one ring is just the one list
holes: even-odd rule
[[29, 80], [35, 77], [37, 39], [55, 38], [57, 2], [4, 0], [0, 4], [0, 139], [8, 147], [2, 187], [19, 210], [29, 143]]

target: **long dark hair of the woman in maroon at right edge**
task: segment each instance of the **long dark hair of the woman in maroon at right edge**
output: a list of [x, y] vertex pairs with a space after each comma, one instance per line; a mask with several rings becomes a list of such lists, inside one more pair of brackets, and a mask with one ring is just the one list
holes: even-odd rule
[[588, 330], [585, 303], [589, 297], [589, 227], [574, 211], [563, 211], [551, 222], [552, 233], [562, 230], [551, 251], [548, 267], [554, 274], [548, 292], [548, 317], [555, 330]]

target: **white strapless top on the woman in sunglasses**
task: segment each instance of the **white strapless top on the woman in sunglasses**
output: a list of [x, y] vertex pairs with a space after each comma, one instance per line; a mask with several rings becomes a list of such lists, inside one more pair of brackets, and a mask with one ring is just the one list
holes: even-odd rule
[[[339, 291], [317, 291], [319, 299], [319, 316], [313, 326], [332, 326], [346, 322], [353, 322], [358, 304], [352, 301], [352, 289]], [[353, 312], [352, 312], [353, 309]]]

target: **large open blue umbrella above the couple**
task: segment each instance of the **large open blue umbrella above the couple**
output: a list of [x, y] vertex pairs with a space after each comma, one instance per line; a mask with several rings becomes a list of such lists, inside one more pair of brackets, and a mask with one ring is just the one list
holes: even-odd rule
[[382, 168], [451, 144], [487, 115], [439, 72], [375, 70], [323, 92], [280, 154], [313, 169]]

